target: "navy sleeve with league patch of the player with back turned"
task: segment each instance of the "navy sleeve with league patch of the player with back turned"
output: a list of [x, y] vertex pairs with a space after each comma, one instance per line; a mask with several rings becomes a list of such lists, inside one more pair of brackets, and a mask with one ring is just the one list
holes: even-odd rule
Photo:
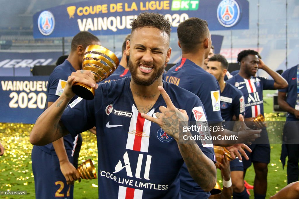
[[208, 122], [222, 122], [220, 112], [220, 87], [216, 78], [213, 76], [206, 76], [202, 81], [202, 84], [198, 85], [194, 81], [193, 85], [197, 87], [197, 96], [204, 105], [207, 113]]

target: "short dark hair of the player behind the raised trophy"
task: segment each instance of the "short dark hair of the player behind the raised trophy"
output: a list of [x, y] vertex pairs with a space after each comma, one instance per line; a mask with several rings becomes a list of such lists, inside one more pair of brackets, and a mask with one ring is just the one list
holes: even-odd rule
[[74, 36], [71, 42], [71, 51], [77, 49], [77, 46], [82, 45], [84, 50], [87, 46], [91, 45], [93, 41], [100, 42], [100, 39], [91, 34], [90, 32], [79, 32], [77, 35]]

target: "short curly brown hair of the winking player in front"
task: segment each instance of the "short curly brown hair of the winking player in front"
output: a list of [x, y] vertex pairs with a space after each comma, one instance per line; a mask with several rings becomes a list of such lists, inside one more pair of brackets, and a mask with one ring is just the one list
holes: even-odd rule
[[162, 30], [163, 32], [166, 32], [170, 39], [170, 32], [171, 32], [171, 24], [169, 19], [166, 19], [164, 15], [161, 15], [159, 13], [149, 13], [144, 12], [140, 13], [138, 17], [131, 23], [132, 32], [135, 29], [142, 28], [142, 27], [155, 27], [159, 30]]

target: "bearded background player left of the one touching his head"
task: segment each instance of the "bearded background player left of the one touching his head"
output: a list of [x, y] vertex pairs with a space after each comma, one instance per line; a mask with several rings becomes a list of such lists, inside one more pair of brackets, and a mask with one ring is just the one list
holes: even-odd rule
[[[233, 85], [225, 83], [224, 77], [228, 69], [228, 62], [220, 54], [210, 57], [207, 65], [207, 72], [214, 75], [220, 86], [220, 109], [224, 126], [232, 130], [234, 126], [233, 116], [244, 115], [245, 104], [243, 93]], [[238, 118], [238, 117], [236, 117]], [[230, 162], [231, 181], [233, 184], [233, 198], [248, 198], [249, 195], [244, 186], [243, 163], [236, 159]]]

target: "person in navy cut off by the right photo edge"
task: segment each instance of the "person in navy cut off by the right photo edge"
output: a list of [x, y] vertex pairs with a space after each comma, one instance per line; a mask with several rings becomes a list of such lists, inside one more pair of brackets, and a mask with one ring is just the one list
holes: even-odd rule
[[298, 181], [299, 176], [299, 65], [293, 66], [281, 74], [289, 84], [287, 88], [278, 90], [278, 104], [288, 112], [283, 128], [283, 145], [281, 162], [283, 166], [288, 156], [288, 184]]

